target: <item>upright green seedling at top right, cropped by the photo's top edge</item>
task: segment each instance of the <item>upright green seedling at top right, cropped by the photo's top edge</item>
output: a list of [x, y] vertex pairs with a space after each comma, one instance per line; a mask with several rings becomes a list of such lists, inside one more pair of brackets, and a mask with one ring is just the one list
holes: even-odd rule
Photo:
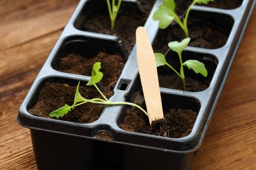
[[198, 4], [207, 4], [208, 2], [211, 2], [214, 0], [193, 0], [192, 4], [188, 7], [187, 13], [182, 21], [179, 19], [177, 14], [175, 13], [175, 2], [174, 0], [164, 0], [163, 4], [159, 7], [159, 9], [154, 13], [153, 19], [154, 20], [159, 20], [159, 28], [165, 29], [167, 28], [173, 20], [179, 24], [179, 26], [182, 28], [184, 31], [186, 37], [189, 37], [189, 32], [187, 29], [187, 18], [189, 15], [189, 12], [192, 8], [193, 5], [196, 3]]

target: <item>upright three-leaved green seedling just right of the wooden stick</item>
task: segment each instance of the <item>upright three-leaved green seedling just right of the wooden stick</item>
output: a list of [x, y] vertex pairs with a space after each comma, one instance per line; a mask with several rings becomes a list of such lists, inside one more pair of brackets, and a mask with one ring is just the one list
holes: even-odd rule
[[183, 66], [187, 66], [188, 69], [194, 70], [196, 73], [200, 73], [203, 76], [207, 77], [207, 70], [205, 68], [205, 65], [202, 62], [199, 62], [197, 60], [187, 60], [185, 62], [182, 62], [182, 51], [185, 50], [188, 43], [190, 41], [190, 38], [185, 38], [182, 40], [182, 42], [169, 42], [168, 46], [171, 50], [175, 51], [179, 55], [179, 61], [180, 61], [180, 72], [174, 69], [168, 62], [165, 60], [165, 56], [161, 53], [155, 53], [156, 57], [156, 67], [167, 65], [170, 67], [181, 79], [183, 82], [184, 90], [186, 90], [186, 82], [185, 82], [185, 75], [184, 75], [184, 68]]

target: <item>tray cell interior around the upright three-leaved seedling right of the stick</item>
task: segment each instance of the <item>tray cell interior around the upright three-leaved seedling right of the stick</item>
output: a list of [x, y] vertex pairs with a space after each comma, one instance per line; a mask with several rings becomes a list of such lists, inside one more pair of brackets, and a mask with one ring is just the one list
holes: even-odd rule
[[[170, 50], [165, 58], [177, 72], [180, 71], [180, 61], [177, 52]], [[184, 66], [186, 91], [200, 92], [207, 89], [218, 65], [218, 60], [209, 54], [184, 51], [182, 52], [182, 61], [185, 62], [187, 60], [198, 60], [204, 63], [208, 75], [207, 77], [204, 77], [200, 73], [197, 74], [192, 69], [189, 70]], [[157, 71], [160, 87], [184, 90], [182, 79], [170, 67], [167, 65], [159, 66]]]

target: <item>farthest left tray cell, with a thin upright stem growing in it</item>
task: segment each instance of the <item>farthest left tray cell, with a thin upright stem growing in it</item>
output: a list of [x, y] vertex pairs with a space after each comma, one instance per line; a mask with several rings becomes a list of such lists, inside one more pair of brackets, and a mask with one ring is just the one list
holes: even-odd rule
[[136, 28], [146, 23], [154, 2], [155, 0], [122, 1], [115, 28], [111, 30], [106, 0], [88, 0], [77, 16], [74, 27], [88, 32], [116, 35], [130, 53], [136, 41]]

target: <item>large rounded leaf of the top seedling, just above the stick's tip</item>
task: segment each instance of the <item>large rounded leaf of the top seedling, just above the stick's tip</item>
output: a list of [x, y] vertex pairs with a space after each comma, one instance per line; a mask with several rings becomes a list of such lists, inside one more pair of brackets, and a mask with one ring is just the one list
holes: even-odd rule
[[172, 23], [172, 21], [174, 20], [174, 16], [169, 8], [167, 8], [166, 6], [161, 6], [154, 13], [153, 20], [159, 20], [159, 28], [165, 29]]

